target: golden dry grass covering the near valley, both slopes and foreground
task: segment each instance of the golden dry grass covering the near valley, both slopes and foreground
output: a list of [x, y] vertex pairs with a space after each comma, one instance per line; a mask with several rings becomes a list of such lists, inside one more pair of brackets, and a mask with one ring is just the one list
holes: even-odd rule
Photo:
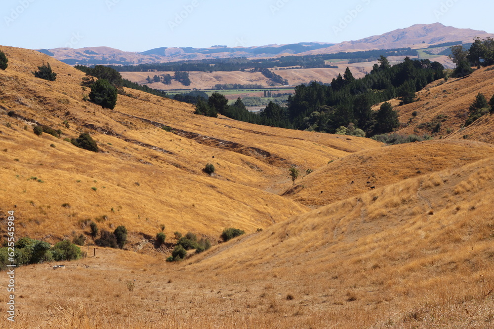
[[[0, 72], [0, 106], [18, 115], [0, 115], [2, 216], [15, 210], [17, 237], [52, 243], [87, 233], [87, 218], [131, 232], [128, 251], [92, 256], [83, 247], [89, 257], [62, 262], [65, 270], [17, 268], [16, 323], [6, 321], [0, 292], [3, 327], [494, 326], [491, 145], [381, 147], [197, 117], [134, 90], [102, 110], [81, 101], [76, 70], [51, 63], [57, 81], [38, 80], [30, 71], [47, 57], [2, 50], [10, 62]], [[20, 116], [69, 137], [89, 130], [102, 152], [36, 137]], [[202, 173], [207, 162], [215, 176]], [[291, 164], [314, 172], [293, 188]], [[168, 264], [145, 239], [162, 223], [167, 243], [175, 230], [215, 240], [226, 226], [247, 234]], [[2, 287], [6, 280], [0, 273]]]

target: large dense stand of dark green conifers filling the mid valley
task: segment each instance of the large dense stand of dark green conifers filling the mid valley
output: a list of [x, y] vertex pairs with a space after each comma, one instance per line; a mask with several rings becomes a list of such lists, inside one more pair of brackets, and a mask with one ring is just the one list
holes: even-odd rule
[[398, 113], [389, 103], [383, 103], [377, 111], [371, 110], [374, 105], [396, 97], [405, 104], [411, 103], [415, 92], [444, 76], [444, 67], [438, 62], [406, 57], [403, 63], [391, 66], [381, 56], [379, 64], [363, 78], [355, 79], [347, 68], [330, 85], [314, 81], [295, 87], [286, 107], [270, 102], [257, 115], [245, 109], [240, 99], [229, 107], [228, 101], [222, 100], [224, 96], [213, 94], [207, 103], [197, 104], [196, 113], [209, 116], [220, 113], [250, 123], [326, 133], [348, 129], [360, 135], [361, 130], [366, 136], [373, 136], [399, 126]]

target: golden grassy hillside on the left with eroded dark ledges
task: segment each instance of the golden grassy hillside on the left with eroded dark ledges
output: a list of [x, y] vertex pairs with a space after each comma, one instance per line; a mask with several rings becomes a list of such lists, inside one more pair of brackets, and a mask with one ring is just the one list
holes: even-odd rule
[[[291, 164], [318, 168], [380, 145], [197, 116], [187, 104], [135, 90], [120, 95], [115, 110], [102, 109], [82, 101], [89, 91], [79, 85], [79, 71], [35, 51], [4, 51], [1, 211], [17, 206], [19, 235], [54, 242], [87, 230], [86, 219], [149, 235], [161, 224], [168, 236], [191, 230], [216, 239], [227, 226], [251, 232], [307, 210], [266, 191], [289, 183]], [[43, 61], [58, 73], [56, 81], [31, 73]], [[63, 134], [38, 137], [32, 121]], [[99, 153], [63, 140], [83, 131], [97, 141]], [[216, 168], [211, 177], [202, 172], [206, 163]]]

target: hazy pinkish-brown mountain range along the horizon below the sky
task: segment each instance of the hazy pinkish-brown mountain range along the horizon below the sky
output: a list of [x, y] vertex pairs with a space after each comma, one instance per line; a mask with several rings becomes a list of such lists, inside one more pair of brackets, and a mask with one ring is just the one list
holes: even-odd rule
[[215, 45], [209, 48], [160, 47], [143, 52], [128, 52], [109, 47], [90, 47], [81, 49], [55, 48], [40, 49], [39, 51], [71, 65], [132, 65], [233, 57], [273, 58], [288, 55], [317, 55], [357, 50], [407, 47], [421, 49], [427, 48], [430, 45], [453, 41], [470, 43], [475, 37], [494, 37], [494, 34], [471, 29], [457, 29], [435, 23], [415, 24], [409, 28], [394, 30], [380, 36], [372, 36], [354, 41], [344, 41], [338, 44], [301, 42], [283, 45], [270, 44], [260, 47], [227, 47], [222, 45]]

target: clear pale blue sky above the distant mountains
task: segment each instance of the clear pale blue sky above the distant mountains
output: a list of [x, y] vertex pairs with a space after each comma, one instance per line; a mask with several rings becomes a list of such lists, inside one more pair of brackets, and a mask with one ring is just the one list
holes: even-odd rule
[[341, 42], [414, 24], [494, 33], [494, 1], [479, 0], [2, 0], [0, 45], [261, 46]]

